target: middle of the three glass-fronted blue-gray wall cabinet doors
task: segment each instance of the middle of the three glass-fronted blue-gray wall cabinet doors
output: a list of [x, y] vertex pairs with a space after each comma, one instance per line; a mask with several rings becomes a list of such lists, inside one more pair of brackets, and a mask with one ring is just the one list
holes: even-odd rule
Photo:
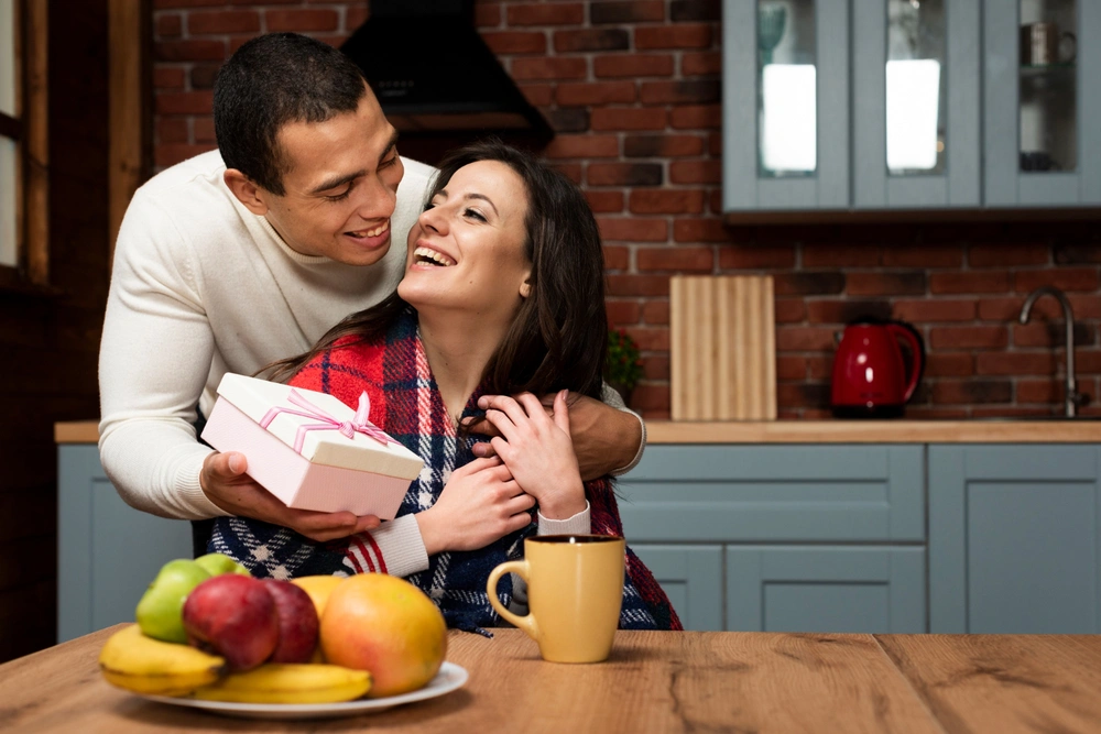
[[981, 204], [974, 0], [853, 0], [853, 205]]

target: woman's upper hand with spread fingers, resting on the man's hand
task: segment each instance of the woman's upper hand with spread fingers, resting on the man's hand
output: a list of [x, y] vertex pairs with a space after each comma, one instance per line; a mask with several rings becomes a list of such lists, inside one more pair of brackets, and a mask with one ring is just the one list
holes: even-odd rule
[[554, 398], [554, 416], [531, 393], [516, 399], [497, 396], [486, 419], [501, 432], [490, 442], [516, 482], [539, 503], [548, 519], [585, 510], [585, 485], [569, 437], [567, 391]]

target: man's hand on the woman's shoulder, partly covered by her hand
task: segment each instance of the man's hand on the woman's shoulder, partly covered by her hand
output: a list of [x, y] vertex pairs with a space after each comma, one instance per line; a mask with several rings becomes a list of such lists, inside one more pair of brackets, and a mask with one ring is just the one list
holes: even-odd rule
[[[539, 401], [548, 415], [554, 413], [549, 407], [554, 398], [555, 395], [552, 394]], [[483, 410], [500, 410], [508, 399], [512, 398], [504, 395], [482, 395], [478, 398], [478, 407]], [[577, 454], [577, 465], [581, 470], [584, 481], [599, 479], [631, 463], [642, 443], [642, 426], [636, 416], [578, 393], [569, 393], [567, 403], [569, 435], [574, 441], [574, 453]], [[470, 430], [491, 437], [501, 435], [484, 419], [471, 425]], [[475, 443], [473, 451], [475, 456], [479, 457], [495, 453], [492, 445], [488, 442]]]

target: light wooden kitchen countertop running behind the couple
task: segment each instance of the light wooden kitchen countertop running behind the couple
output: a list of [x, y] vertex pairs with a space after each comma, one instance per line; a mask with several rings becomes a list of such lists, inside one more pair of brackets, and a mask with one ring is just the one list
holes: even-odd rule
[[[745, 420], [646, 423], [662, 443], [1098, 443], [1101, 420]], [[96, 443], [99, 424], [54, 424], [58, 443]]]

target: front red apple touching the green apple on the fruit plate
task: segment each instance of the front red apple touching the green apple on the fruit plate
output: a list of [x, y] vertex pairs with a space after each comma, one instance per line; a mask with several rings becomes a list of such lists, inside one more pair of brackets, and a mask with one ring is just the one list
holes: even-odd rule
[[187, 594], [184, 629], [193, 647], [222, 656], [232, 670], [249, 670], [275, 650], [279, 613], [260, 579], [226, 573]]

